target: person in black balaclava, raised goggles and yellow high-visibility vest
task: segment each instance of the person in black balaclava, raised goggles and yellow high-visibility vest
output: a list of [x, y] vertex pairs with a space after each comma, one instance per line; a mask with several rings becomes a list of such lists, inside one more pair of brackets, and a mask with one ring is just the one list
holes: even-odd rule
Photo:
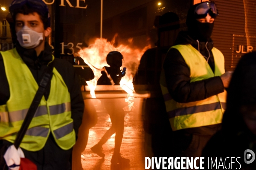
[[199, 157], [205, 144], [221, 128], [225, 88], [232, 72], [211, 40], [218, 10], [213, 1], [192, 6], [188, 31], [180, 31], [163, 63], [160, 78], [172, 126], [174, 156]]

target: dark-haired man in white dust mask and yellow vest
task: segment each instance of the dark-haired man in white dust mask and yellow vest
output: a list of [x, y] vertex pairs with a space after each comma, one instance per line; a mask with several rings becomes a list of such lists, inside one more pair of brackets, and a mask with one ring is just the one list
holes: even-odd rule
[[14, 143], [47, 65], [54, 60], [50, 85], [20, 147], [38, 170], [70, 170], [84, 102], [73, 66], [52, 56], [51, 33], [42, 0], [14, 0], [16, 47], [0, 52], [0, 148]]

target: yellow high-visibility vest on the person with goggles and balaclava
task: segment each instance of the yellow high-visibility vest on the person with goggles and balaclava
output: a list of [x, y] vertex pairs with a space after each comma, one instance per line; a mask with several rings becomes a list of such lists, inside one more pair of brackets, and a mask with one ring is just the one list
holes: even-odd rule
[[[177, 49], [188, 65], [190, 70], [190, 82], [221, 76], [225, 73], [224, 56], [217, 48], [212, 48], [215, 62], [214, 73], [206, 59], [204, 59], [202, 54], [193, 48], [192, 45], [175, 45], [171, 48]], [[160, 85], [172, 130], [175, 131], [221, 123], [226, 108], [226, 91], [204, 100], [179, 103], [172, 99], [172, 96], [169, 94], [166, 85], [166, 75], [163, 70], [160, 76]]]

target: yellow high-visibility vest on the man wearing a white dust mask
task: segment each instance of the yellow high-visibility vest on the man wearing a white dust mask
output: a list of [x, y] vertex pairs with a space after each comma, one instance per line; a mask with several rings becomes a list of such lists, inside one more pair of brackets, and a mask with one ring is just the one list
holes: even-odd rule
[[[14, 143], [38, 90], [38, 84], [16, 48], [1, 51], [1, 54], [9, 83], [10, 98], [6, 105], [0, 105], [0, 139]], [[42, 97], [20, 147], [29, 151], [41, 150], [50, 133], [63, 150], [70, 149], [76, 142], [71, 119], [70, 93], [55, 68], [49, 97], [47, 100]]]

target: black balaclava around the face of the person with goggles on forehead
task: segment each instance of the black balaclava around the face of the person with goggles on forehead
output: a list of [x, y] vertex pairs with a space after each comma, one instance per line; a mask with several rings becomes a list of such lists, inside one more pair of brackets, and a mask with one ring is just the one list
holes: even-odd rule
[[189, 35], [200, 42], [207, 42], [210, 40], [214, 23], [201, 23], [196, 20], [195, 7], [200, 3], [189, 8], [186, 25], [188, 26]]

